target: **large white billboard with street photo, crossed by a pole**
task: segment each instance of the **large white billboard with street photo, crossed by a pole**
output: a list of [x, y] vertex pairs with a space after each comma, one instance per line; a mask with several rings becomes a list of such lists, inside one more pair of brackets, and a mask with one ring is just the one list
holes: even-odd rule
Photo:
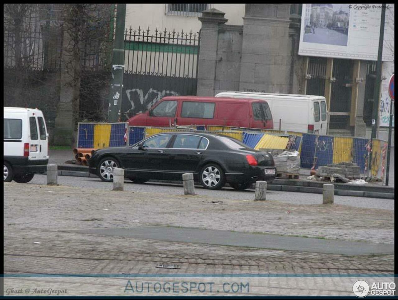
[[[298, 54], [377, 60], [381, 4], [303, 4]], [[386, 5], [383, 61], [394, 58], [394, 4]]]

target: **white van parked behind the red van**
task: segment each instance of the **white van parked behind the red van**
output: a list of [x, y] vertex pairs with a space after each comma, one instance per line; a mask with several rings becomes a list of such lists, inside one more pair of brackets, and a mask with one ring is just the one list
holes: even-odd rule
[[323, 96], [254, 92], [222, 92], [215, 97], [266, 100], [271, 109], [273, 128], [302, 133], [326, 134], [328, 110]]

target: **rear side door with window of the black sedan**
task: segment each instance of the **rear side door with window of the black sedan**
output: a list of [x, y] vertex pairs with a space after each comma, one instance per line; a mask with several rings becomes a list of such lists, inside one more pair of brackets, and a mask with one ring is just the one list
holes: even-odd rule
[[209, 140], [200, 135], [176, 134], [170, 152], [170, 167], [177, 175], [198, 172], [198, 166]]

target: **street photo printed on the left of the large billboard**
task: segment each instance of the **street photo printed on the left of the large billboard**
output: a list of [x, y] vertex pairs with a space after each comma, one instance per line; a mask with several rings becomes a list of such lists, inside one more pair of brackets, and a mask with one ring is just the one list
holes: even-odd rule
[[303, 42], [347, 46], [348, 4], [307, 4]]

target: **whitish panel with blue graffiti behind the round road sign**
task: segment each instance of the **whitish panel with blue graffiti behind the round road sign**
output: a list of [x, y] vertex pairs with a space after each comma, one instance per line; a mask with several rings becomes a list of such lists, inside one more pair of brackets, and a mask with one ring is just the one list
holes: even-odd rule
[[[388, 127], [390, 122], [390, 95], [388, 94], [388, 81], [391, 75], [394, 73], [393, 62], [383, 62], [382, 66], [382, 78], [386, 78], [381, 81], [380, 87], [380, 109], [378, 124], [380, 127]], [[392, 117], [392, 127], [394, 127], [394, 117]]]

